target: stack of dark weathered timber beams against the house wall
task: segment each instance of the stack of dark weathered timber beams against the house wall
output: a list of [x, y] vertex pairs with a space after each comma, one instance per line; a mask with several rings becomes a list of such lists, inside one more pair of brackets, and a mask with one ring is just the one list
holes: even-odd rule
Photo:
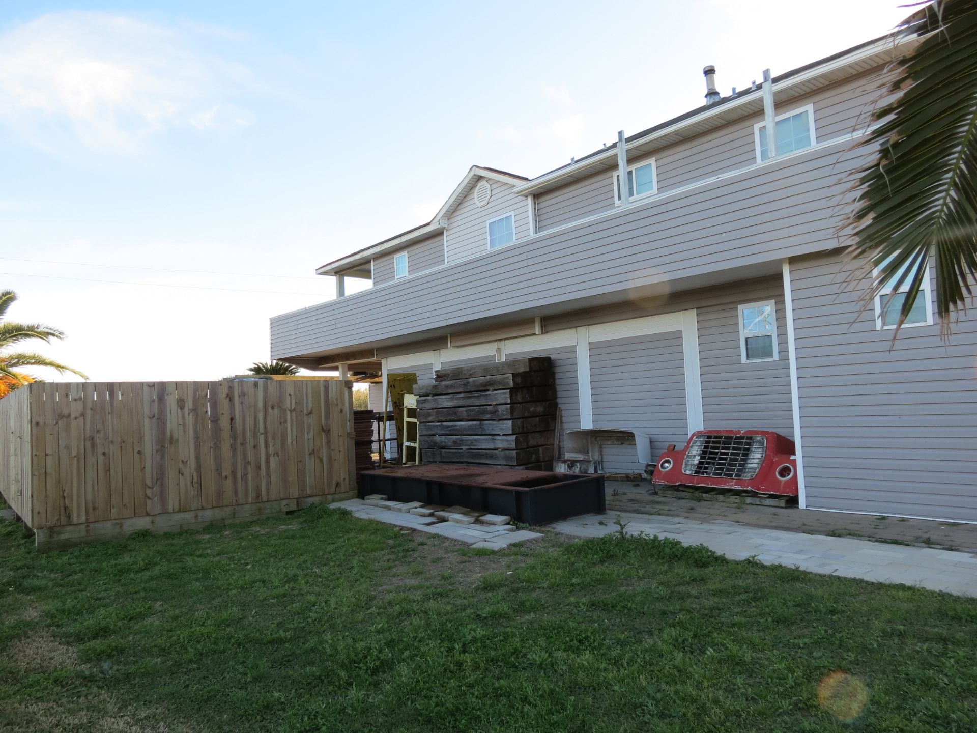
[[557, 403], [549, 357], [439, 369], [414, 392], [426, 463], [552, 470]]

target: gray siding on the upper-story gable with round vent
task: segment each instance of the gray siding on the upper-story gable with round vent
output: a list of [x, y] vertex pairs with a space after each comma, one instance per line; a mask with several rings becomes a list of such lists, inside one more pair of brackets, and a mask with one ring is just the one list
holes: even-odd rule
[[447, 261], [457, 262], [488, 251], [488, 221], [513, 213], [516, 241], [530, 236], [530, 210], [526, 196], [512, 193], [512, 186], [501, 181], [488, 180], [491, 196], [488, 204], [475, 202], [474, 182], [472, 190], [462, 199], [447, 220]]

